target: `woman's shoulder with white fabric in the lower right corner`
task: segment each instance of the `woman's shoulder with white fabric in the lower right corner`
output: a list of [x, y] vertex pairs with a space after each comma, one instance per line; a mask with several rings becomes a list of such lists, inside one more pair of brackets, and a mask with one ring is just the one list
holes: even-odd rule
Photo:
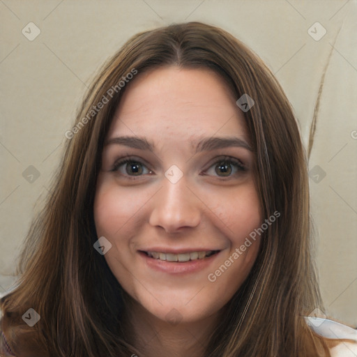
[[315, 333], [328, 339], [326, 342], [332, 357], [357, 356], [357, 330], [337, 321], [319, 317], [305, 317], [305, 320]]

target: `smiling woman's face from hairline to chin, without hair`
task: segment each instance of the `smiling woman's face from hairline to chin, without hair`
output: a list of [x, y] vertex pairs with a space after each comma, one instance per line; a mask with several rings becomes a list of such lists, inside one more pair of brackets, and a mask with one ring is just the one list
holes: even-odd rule
[[210, 70], [139, 73], [107, 133], [98, 238], [123, 289], [164, 321], [218, 312], [257, 257], [255, 155], [236, 99]]

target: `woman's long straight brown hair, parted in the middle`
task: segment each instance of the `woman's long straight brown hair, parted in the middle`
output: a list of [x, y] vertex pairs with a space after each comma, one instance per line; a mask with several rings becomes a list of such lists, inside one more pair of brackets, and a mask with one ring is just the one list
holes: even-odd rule
[[[93, 81], [47, 202], [26, 237], [19, 285], [1, 302], [9, 344], [18, 356], [31, 356], [22, 355], [29, 341], [36, 356], [139, 353], [123, 324], [126, 292], [93, 249], [93, 199], [105, 135], [135, 76], [118, 83], [135, 70], [140, 75], [161, 66], [209, 68], [235, 98], [246, 93], [255, 100], [244, 116], [257, 157], [257, 190], [264, 218], [281, 213], [264, 231], [255, 265], [227, 303], [205, 356], [330, 356], [303, 318], [322, 307], [311, 256], [307, 160], [291, 106], [257, 55], [226, 31], [199, 22], [133, 36]], [[99, 102], [105, 104], [97, 111]], [[21, 318], [30, 307], [41, 317], [32, 328]]]

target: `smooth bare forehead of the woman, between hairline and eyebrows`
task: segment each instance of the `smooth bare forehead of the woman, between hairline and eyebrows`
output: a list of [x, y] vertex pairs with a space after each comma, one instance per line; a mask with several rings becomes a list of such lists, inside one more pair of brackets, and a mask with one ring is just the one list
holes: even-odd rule
[[163, 132], [176, 139], [218, 133], [248, 140], [236, 98], [220, 75], [204, 68], [139, 73], [123, 93], [107, 137]]

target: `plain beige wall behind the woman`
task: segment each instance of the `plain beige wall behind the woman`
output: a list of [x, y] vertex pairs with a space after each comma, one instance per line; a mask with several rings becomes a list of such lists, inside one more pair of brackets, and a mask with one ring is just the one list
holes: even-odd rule
[[[266, 61], [305, 144], [328, 63], [309, 165], [317, 264], [328, 313], [357, 326], [356, 1], [1, 0], [0, 10], [0, 294], [13, 282], [38, 197], [47, 193], [64, 133], [98, 66], [138, 31], [202, 21], [233, 33]], [[29, 22], [40, 29], [32, 41], [22, 34]], [[327, 31], [319, 40], [308, 33], [315, 22]], [[319, 25], [311, 31], [323, 33]], [[32, 183], [23, 176], [30, 165], [40, 173]]]

